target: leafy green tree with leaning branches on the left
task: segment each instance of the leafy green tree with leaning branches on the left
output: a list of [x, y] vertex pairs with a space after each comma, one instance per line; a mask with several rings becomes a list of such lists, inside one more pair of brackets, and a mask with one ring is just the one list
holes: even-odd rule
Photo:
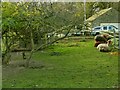
[[[38, 5], [38, 3], [35, 2], [32, 3], [5, 2], [3, 3], [2, 6], [2, 12], [4, 15], [2, 18], [3, 19], [2, 38], [3, 38], [3, 44], [5, 46], [2, 59], [3, 59], [3, 63], [5, 64], [7, 64], [10, 60], [10, 52], [12, 51], [13, 45], [17, 44], [18, 46], [20, 46], [21, 42], [22, 44], [27, 44], [26, 48], [31, 49], [31, 55], [32, 55], [34, 51], [43, 49], [48, 45], [51, 45], [52, 43], [56, 42], [57, 40], [63, 38], [63, 37], [57, 39], [54, 38], [52, 41], [48, 42], [48, 37], [46, 37], [48, 33], [53, 33], [52, 36], [54, 36], [55, 33], [60, 33], [64, 31], [63, 30], [64, 28], [62, 27], [66, 28], [66, 26], [70, 24], [69, 23], [68, 25], [62, 25], [62, 27], [59, 26], [59, 23], [52, 24], [52, 22], [54, 23], [57, 22], [52, 20], [53, 17], [57, 18], [57, 14], [54, 12], [51, 3], [44, 3], [44, 4], [40, 3]], [[67, 30], [67, 32], [69, 32], [69, 30]], [[37, 43], [37, 46], [35, 47], [36, 33], [40, 40], [43, 39], [43, 42], [39, 44]], [[66, 35], [67, 34], [68, 33], [66, 33]], [[30, 45], [30, 47], [28, 47], [28, 45]], [[40, 48], [38, 48], [38, 46]], [[7, 58], [9, 57], [9, 58], [6, 60], [5, 57]], [[28, 57], [27, 61], [30, 60], [30, 57]]]

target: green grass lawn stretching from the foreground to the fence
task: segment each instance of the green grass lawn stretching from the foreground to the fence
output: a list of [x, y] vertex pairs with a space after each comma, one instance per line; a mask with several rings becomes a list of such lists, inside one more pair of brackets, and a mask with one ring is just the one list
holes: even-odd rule
[[3, 66], [3, 88], [118, 87], [118, 57], [99, 52], [93, 44], [66, 40], [38, 51], [32, 60], [41, 68]]

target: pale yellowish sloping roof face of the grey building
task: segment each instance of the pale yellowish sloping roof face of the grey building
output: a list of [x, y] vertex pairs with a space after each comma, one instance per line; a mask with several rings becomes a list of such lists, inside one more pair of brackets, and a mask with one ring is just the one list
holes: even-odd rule
[[91, 17], [89, 17], [86, 21], [94, 21], [96, 18], [98, 18], [99, 16], [105, 14], [106, 12], [108, 12], [111, 9], [112, 8], [103, 9], [103, 10], [97, 12], [96, 14], [92, 15]]

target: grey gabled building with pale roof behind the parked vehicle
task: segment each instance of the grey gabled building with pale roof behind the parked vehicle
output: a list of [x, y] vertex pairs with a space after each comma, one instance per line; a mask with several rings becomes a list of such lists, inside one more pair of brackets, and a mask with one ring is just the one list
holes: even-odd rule
[[120, 13], [116, 9], [107, 8], [92, 15], [86, 22], [91, 28], [101, 25], [114, 25], [118, 27], [120, 25], [119, 16]]

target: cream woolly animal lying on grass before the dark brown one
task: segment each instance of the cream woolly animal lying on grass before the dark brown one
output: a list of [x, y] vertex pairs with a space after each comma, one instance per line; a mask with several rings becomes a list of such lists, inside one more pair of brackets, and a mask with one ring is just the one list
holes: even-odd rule
[[101, 43], [97, 46], [97, 49], [101, 52], [109, 52], [110, 51], [110, 42], [107, 43]]

